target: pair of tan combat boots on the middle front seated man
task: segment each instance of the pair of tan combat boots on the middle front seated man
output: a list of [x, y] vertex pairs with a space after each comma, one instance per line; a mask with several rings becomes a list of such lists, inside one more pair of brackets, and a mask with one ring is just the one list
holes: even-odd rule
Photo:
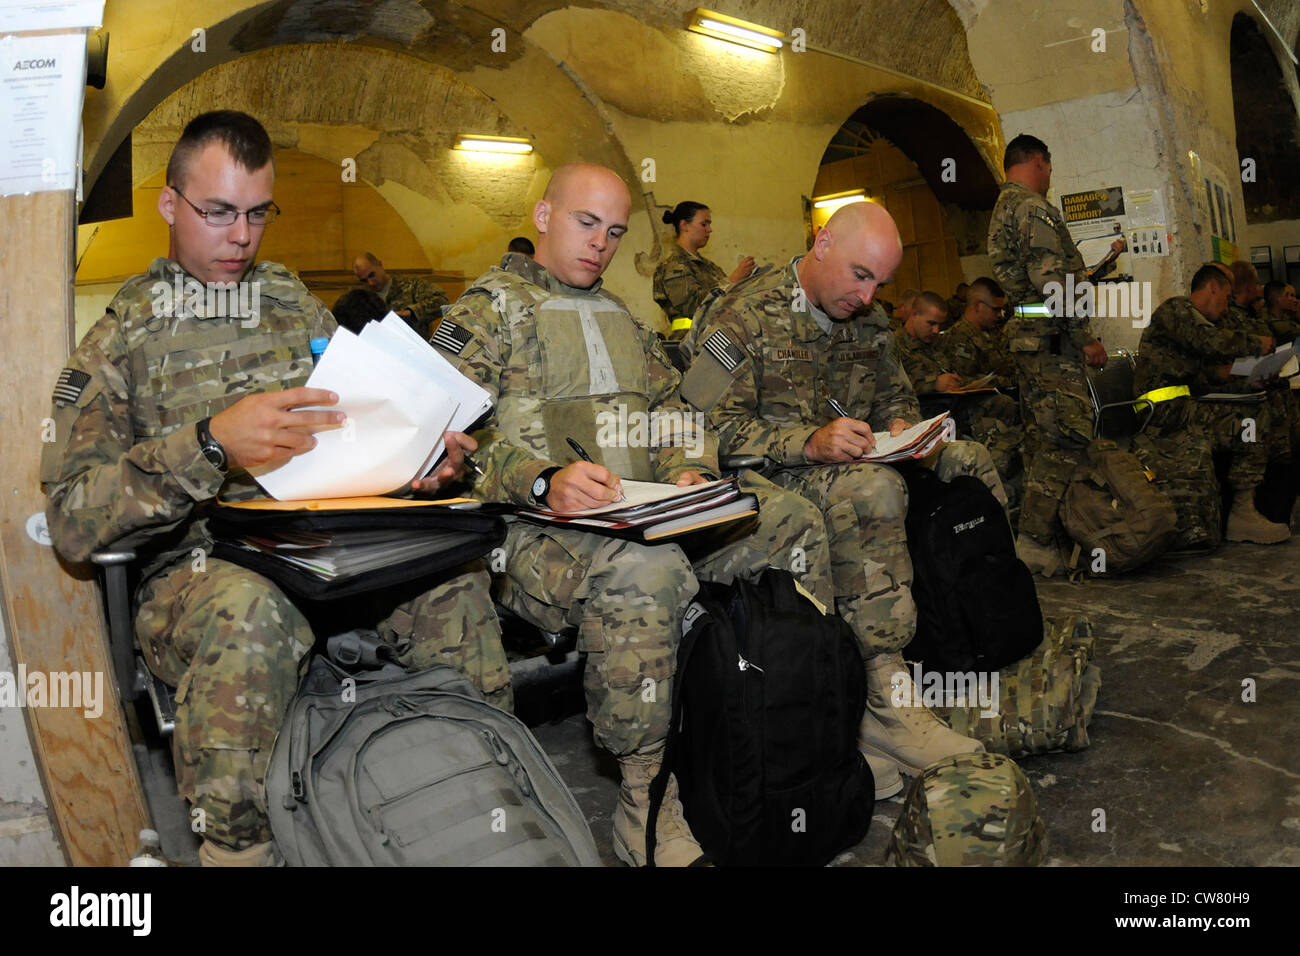
[[[663, 744], [619, 757], [623, 786], [614, 810], [614, 855], [628, 866], [646, 865], [646, 821], [650, 818], [650, 782], [659, 774]], [[668, 788], [655, 822], [655, 866], [693, 866], [705, 860], [705, 852], [690, 835], [677, 799], [677, 778], [668, 777]]]

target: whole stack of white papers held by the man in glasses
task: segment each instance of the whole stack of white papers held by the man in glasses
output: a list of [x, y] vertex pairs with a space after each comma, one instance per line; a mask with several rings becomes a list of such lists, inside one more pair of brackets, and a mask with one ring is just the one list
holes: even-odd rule
[[442, 433], [464, 431], [491, 407], [465, 378], [390, 312], [360, 336], [338, 329], [307, 380], [338, 394], [343, 428], [316, 432], [316, 447], [252, 475], [281, 501], [387, 494], [424, 477], [443, 453]]

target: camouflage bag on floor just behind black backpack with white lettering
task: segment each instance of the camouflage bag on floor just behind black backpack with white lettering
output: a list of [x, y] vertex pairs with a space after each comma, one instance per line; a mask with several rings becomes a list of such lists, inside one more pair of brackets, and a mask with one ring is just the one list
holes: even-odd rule
[[933, 710], [993, 753], [1083, 750], [1101, 688], [1101, 669], [1092, 663], [1095, 643], [1087, 618], [1044, 620], [1039, 649], [997, 672], [996, 714], [978, 702]]

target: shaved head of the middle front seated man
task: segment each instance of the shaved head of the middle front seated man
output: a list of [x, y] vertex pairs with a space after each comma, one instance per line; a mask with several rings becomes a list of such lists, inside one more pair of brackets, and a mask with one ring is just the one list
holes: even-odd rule
[[590, 289], [619, 250], [630, 212], [632, 194], [612, 169], [563, 165], [533, 208], [534, 260], [566, 285]]

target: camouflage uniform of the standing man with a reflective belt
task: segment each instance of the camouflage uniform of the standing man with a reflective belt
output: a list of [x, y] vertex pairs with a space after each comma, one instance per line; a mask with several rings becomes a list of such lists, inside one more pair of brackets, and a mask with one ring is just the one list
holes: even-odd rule
[[[1037, 193], [1004, 182], [988, 226], [993, 278], [1013, 306], [1043, 302], [1044, 286], [1072, 273], [1087, 278], [1083, 258], [1061, 213]], [[1005, 328], [1015, 359], [1028, 466], [1020, 532], [1052, 544], [1057, 510], [1092, 440], [1093, 410], [1083, 372], [1083, 347], [1093, 334], [1087, 316], [1020, 317]]]

